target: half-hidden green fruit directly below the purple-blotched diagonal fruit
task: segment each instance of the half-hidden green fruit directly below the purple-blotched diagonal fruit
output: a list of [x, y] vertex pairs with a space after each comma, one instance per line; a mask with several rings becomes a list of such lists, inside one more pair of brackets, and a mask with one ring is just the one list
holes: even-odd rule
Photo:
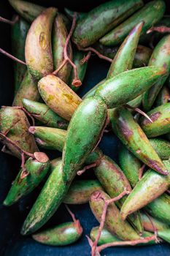
[[125, 177], [128, 178], [131, 187], [135, 187], [139, 181], [139, 169], [142, 167], [142, 162], [124, 146], [121, 146], [118, 157]]

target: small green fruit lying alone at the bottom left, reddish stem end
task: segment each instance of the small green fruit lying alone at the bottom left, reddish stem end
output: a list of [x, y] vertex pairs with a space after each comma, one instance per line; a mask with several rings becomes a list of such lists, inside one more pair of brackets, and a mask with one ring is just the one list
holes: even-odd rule
[[[80, 225], [80, 222], [79, 222]], [[82, 236], [82, 227], [74, 222], [62, 223], [58, 226], [36, 233], [32, 238], [50, 246], [65, 246], [76, 242]]]

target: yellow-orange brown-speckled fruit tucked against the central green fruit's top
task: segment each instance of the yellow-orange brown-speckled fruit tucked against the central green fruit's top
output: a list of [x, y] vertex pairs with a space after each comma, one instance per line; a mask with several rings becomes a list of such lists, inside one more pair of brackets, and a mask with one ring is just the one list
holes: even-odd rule
[[82, 99], [55, 75], [47, 75], [39, 80], [39, 93], [47, 106], [59, 116], [70, 120]]

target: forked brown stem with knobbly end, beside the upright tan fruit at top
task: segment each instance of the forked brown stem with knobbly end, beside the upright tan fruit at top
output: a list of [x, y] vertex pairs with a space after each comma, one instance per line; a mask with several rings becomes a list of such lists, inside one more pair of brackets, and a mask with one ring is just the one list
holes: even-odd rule
[[65, 43], [64, 49], [63, 49], [63, 58], [64, 58], [64, 60], [61, 63], [60, 67], [58, 67], [58, 69], [56, 69], [53, 72], [53, 75], [57, 75], [58, 72], [63, 68], [63, 66], [66, 65], [67, 62], [69, 62], [69, 64], [71, 64], [73, 69], [74, 69], [74, 79], [72, 81], [72, 86], [79, 87], [79, 86], [81, 86], [82, 82], [78, 78], [77, 66], [72, 62], [71, 59], [69, 59], [69, 56], [68, 56], [68, 53], [67, 53], [67, 48], [68, 48], [68, 45], [69, 45], [69, 40], [72, 37], [74, 28], [76, 26], [76, 18], [77, 18], [77, 12], [74, 12], [74, 18], [73, 18], [73, 21], [72, 21], [72, 28], [69, 31], [69, 34], [68, 34], [68, 37], [66, 38], [66, 43]]

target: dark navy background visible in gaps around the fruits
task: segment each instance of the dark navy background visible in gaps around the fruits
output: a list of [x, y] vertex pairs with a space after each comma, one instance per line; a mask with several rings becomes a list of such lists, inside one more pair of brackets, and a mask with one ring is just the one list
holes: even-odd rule
[[[118, 0], [117, 0], [118, 1]], [[62, 11], [63, 7], [68, 7], [78, 12], [87, 12], [88, 10], [96, 7], [98, 4], [105, 2], [100, 1], [32, 1], [36, 4], [41, 4], [46, 7], [55, 6], [58, 10]], [[147, 2], [147, 1], [145, 1]], [[166, 10], [169, 10], [169, 0], [166, 0]], [[166, 11], [167, 12], [167, 11]], [[14, 10], [10, 7], [8, 1], [0, 1], [0, 15], [4, 18], [12, 18]], [[0, 47], [4, 50], [11, 52], [11, 39], [10, 39], [10, 25], [0, 23]], [[6, 56], [0, 56], [0, 105], [12, 105], [12, 98], [14, 92], [13, 86], [13, 61]], [[106, 77], [109, 64], [106, 61], [101, 61], [93, 57], [88, 64], [87, 75], [80, 90], [80, 96], [85, 94], [96, 83]], [[105, 134], [100, 143], [101, 149], [104, 154], [107, 154], [112, 159], [117, 160], [117, 146], [119, 142], [112, 134]], [[59, 153], [50, 153], [51, 158], [58, 157]], [[88, 246], [85, 234], [90, 233], [90, 229], [96, 225], [93, 214], [90, 212], [88, 204], [82, 206], [71, 206], [70, 208], [80, 219], [84, 233], [80, 241], [72, 246], [52, 247], [44, 246], [36, 243], [31, 237], [20, 236], [20, 227], [23, 220], [30, 210], [36, 196], [39, 194], [41, 187], [38, 187], [34, 192], [28, 195], [24, 200], [9, 208], [2, 206], [2, 202], [7, 195], [11, 186], [12, 180], [18, 173], [20, 162], [14, 157], [0, 152], [0, 255], [7, 256], [54, 256], [54, 255], [90, 255], [90, 247]], [[85, 173], [81, 178], [93, 177], [92, 172]], [[61, 206], [55, 213], [52, 219], [47, 222], [46, 226], [57, 225], [61, 222], [69, 221], [71, 218], [66, 212], [66, 209]], [[124, 247], [112, 248], [104, 251], [102, 255], [116, 255], [116, 256], [140, 256], [140, 255], [170, 255], [170, 246], [168, 244], [155, 245], [155, 246], [138, 246], [138, 247]]]

